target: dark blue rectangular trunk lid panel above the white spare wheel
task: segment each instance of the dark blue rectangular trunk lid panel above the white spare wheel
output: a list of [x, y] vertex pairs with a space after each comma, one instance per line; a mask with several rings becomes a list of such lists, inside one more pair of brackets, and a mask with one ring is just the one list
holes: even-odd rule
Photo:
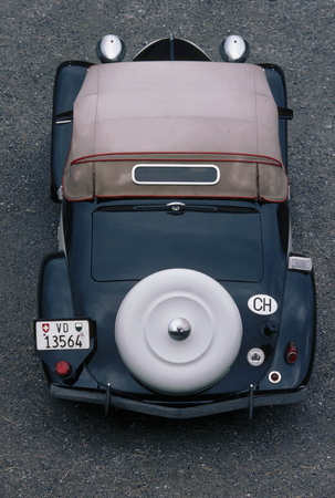
[[260, 214], [210, 206], [118, 206], [93, 212], [92, 276], [140, 280], [188, 268], [216, 280], [263, 277]]

